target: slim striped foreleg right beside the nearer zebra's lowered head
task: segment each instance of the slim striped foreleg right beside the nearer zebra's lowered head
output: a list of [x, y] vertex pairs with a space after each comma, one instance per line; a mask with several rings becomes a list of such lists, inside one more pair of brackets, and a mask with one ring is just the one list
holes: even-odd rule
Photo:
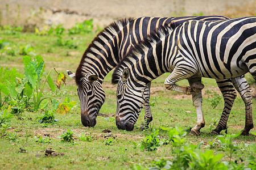
[[150, 109], [150, 85], [151, 83], [148, 84], [148, 88], [146, 88], [144, 91], [144, 96], [147, 96], [147, 97], [145, 98], [145, 103], [144, 103], [144, 109], [145, 109], [144, 122], [141, 124], [141, 127], [139, 128], [139, 130], [141, 131], [143, 131], [144, 129], [148, 129], [148, 125], [153, 120], [151, 109]]

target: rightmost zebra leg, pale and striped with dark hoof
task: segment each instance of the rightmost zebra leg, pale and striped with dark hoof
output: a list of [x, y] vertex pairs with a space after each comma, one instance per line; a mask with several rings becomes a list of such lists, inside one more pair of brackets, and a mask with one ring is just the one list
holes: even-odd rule
[[251, 88], [243, 76], [232, 78], [231, 80], [245, 103], [245, 128], [241, 135], [249, 135], [249, 131], [253, 129], [253, 99], [251, 97]]

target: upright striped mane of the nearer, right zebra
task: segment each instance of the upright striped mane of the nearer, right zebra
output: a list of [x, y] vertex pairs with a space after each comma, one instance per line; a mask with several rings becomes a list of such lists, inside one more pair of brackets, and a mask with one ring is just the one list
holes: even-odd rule
[[133, 65], [133, 61], [138, 61], [142, 54], [144, 54], [148, 49], [150, 49], [156, 42], [164, 39], [166, 36], [170, 35], [170, 33], [177, 27], [175, 22], [171, 22], [170, 24], [161, 25], [158, 29], [150, 32], [150, 34], [146, 37], [146, 39], [139, 41], [135, 44], [129, 52], [122, 58], [122, 60], [118, 63], [117, 67], [112, 74], [112, 84], [117, 84], [119, 79], [122, 76], [122, 71], [125, 67], [129, 67], [129, 65]]

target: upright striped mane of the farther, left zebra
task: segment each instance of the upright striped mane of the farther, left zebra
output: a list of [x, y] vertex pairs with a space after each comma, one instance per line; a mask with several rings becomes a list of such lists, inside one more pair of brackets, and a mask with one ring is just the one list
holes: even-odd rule
[[[94, 54], [94, 49], [97, 47], [98, 44], [104, 45], [105, 42], [102, 40], [109, 40], [110, 36], [114, 36], [116, 33], [121, 31], [123, 27], [125, 27], [127, 24], [129, 24], [133, 18], [125, 18], [125, 19], [119, 19], [108, 26], [106, 26], [98, 35], [92, 40], [88, 48], [85, 50], [84, 54], [82, 55], [79, 67], [77, 67], [76, 70], [76, 84], [79, 86], [81, 83], [81, 79], [84, 77], [86, 70], [83, 70], [82, 67], [85, 65], [87, 67], [91, 67], [89, 65], [89, 62], [93, 59], [94, 56], [90, 54]], [[87, 63], [87, 64], [86, 64]]]

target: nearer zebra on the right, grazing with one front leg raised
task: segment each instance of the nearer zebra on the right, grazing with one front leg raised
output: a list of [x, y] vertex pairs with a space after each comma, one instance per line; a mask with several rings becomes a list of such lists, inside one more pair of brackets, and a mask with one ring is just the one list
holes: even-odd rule
[[[192, 95], [197, 113], [192, 135], [200, 135], [205, 125], [201, 77], [218, 79], [219, 86], [226, 82], [224, 79], [231, 79], [235, 88], [245, 88], [246, 120], [242, 135], [249, 135], [253, 128], [252, 97], [250, 87], [241, 80], [247, 72], [256, 79], [256, 17], [165, 25], [130, 49], [112, 74], [112, 83], [118, 84], [118, 129], [133, 130], [149, 97], [143, 93], [147, 84], [166, 72], [171, 73], [164, 82], [167, 90]], [[188, 79], [188, 87], [175, 84], [182, 79]], [[225, 120], [223, 114], [225, 111], [221, 117]], [[213, 133], [218, 133], [217, 130]]]

